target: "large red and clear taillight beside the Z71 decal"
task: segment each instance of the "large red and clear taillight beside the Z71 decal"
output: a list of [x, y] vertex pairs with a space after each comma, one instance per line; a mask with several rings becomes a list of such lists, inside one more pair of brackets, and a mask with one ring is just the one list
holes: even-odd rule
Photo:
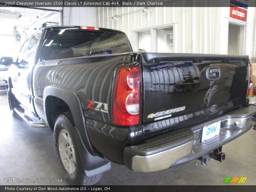
[[122, 64], [116, 68], [113, 97], [113, 124], [141, 124], [141, 65]]

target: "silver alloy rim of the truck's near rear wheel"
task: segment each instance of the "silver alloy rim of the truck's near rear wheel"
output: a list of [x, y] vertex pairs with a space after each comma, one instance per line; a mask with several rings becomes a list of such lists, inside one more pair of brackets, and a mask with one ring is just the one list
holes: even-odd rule
[[75, 149], [71, 137], [65, 129], [60, 130], [58, 143], [62, 164], [69, 174], [73, 174], [76, 171]]

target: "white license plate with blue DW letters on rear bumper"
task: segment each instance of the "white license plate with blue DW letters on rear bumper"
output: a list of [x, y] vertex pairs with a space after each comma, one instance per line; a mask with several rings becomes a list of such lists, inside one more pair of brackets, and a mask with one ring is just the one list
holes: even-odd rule
[[220, 121], [203, 127], [201, 142], [220, 134]]

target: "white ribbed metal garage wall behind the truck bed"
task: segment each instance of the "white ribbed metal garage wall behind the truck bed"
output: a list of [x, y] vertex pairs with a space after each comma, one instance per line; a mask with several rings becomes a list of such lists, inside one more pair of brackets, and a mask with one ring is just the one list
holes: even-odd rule
[[[98, 7], [96, 26], [124, 31], [134, 51], [138, 51], [136, 32], [163, 26], [173, 26], [174, 52], [228, 52], [228, 23], [245, 28], [244, 54], [253, 56], [255, 41], [255, 7], [248, 7], [247, 22], [229, 18], [229, 7]], [[117, 20], [112, 17], [118, 15]]]

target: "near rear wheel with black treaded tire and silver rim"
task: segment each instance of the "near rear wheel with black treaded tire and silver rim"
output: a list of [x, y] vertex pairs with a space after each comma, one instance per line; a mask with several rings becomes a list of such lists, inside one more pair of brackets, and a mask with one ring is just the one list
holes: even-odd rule
[[[102, 177], [102, 173], [92, 177], [87, 177], [85, 175], [85, 172], [82, 168], [81, 160], [79, 159], [79, 154], [78, 154], [79, 149], [77, 148], [77, 145], [76, 145], [74, 126], [75, 126], [74, 120], [70, 112], [63, 113], [60, 116], [58, 116], [56, 119], [56, 123], [54, 125], [54, 145], [55, 145], [55, 151], [58, 158], [58, 163], [60, 165], [62, 174], [64, 175], [65, 179], [68, 181], [70, 185], [86, 185], [86, 186], [93, 185], [100, 180], [100, 178]], [[65, 140], [64, 138], [63, 141], [61, 141], [61, 138], [63, 138], [62, 135], [64, 136], [66, 135], [67, 140]], [[71, 143], [69, 143], [69, 141], [71, 141]], [[61, 147], [62, 147], [62, 150], [60, 149]], [[65, 154], [65, 152], [63, 154], [63, 150], [64, 151], [66, 150], [67, 155]], [[61, 154], [62, 154], [62, 158], [61, 158]], [[75, 167], [74, 169], [70, 169], [68, 171], [67, 168], [65, 168], [65, 165], [64, 165], [65, 162], [63, 163], [63, 161], [65, 160], [65, 159], [63, 160], [63, 157], [65, 156], [66, 157], [68, 156], [66, 158], [66, 167], [69, 161], [76, 162], [76, 163], [73, 162], [73, 166], [71, 166], [70, 164], [70, 167], [73, 167], [73, 168]], [[69, 158], [69, 161], [68, 161], [68, 158]], [[83, 162], [83, 163], [86, 163], [86, 162]]]

